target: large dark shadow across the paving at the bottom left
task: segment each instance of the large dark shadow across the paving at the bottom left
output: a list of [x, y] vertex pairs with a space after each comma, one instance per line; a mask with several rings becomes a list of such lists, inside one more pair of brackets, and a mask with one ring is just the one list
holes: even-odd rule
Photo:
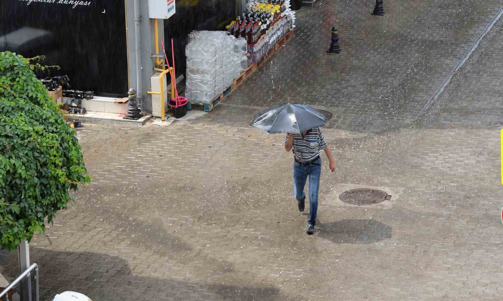
[[[279, 288], [253, 284], [207, 284], [135, 276], [128, 262], [118, 256], [93, 252], [58, 252], [34, 248], [31, 261], [40, 267], [40, 300], [51, 300], [65, 290], [86, 294], [93, 300], [293, 300]], [[18, 274], [17, 252], [0, 251], [0, 271]], [[229, 283], [238, 280], [229, 279]], [[141, 293], [140, 293], [141, 292]]]

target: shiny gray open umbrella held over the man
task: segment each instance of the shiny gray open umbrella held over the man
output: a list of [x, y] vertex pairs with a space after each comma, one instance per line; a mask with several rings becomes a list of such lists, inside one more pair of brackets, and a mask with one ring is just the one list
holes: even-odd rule
[[250, 126], [270, 134], [297, 133], [324, 126], [326, 118], [307, 105], [283, 104], [255, 115]]

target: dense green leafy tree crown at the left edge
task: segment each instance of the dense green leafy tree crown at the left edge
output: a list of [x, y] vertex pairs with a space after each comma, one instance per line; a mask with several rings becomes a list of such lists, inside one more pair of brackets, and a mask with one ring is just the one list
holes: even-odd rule
[[76, 133], [35, 68], [44, 67], [0, 52], [0, 249], [10, 251], [53, 223], [70, 188], [90, 181]]

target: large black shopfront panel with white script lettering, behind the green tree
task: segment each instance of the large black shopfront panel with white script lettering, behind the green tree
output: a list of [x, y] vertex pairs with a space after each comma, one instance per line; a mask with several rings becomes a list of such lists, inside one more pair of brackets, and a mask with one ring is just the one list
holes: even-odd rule
[[[0, 51], [25, 57], [45, 55], [42, 65], [67, 74], [71, 87], [103, 96], [123, 96], [128, 89], [124, 0], [58, 4], [58, 0], [0, 2]], [[146, 2], [146, 0], [145, 0]]]

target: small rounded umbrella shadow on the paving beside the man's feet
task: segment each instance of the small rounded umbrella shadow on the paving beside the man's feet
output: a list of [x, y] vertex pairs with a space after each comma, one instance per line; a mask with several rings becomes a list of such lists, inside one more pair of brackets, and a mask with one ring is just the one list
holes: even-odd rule
[[393, 235], [390, 226], [372, 219], [320, 223], [318, 227], [319, 237], [338, 244], [370, 244]]

